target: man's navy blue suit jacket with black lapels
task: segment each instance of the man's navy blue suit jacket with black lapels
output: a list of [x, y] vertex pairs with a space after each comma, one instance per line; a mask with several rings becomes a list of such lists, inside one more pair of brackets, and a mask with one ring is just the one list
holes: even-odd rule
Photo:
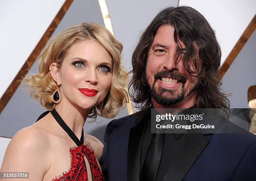
[[[139, 181], [145, 118], [136, 114], [111, 121], [100, 158], [106, 181]], [[256, 181], [256, 136], [186, 134], [182, 150], [164, 181]]]

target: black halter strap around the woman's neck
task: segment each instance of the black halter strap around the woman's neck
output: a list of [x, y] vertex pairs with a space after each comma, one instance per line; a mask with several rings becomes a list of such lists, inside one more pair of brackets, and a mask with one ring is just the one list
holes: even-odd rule
[[58, 112], [55, 110], [55, 108], [51, 111], [51, 114], [55, 118], [55, 120], [59, 123], [59, 125], [68, 133], [69, 137], [74, 141], [74, 143], [77, 144], [77, 146], [80, 146], [84, 143], [84, 130], [82, 130], [82, 135], [80, 140], [77, 138], [77, 136], [74, 134], [74, 132], [66, 125], [64, 120], [60, 117]]

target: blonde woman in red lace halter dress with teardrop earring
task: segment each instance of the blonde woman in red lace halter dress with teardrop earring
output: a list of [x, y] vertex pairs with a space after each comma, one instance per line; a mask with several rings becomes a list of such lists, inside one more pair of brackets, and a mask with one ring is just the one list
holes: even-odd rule
[[14, 135], [1, 172], [29, 172], [19, 179], [26, 181], [103, 180], [103, 145], [83, 127], [87, 117], [114, 117], [128, 101], [122, 49], [95, 23], [72, 26], [51, 40], [39, 56], [39, 74], [25, 79], [31, 96], [51, 112]]

